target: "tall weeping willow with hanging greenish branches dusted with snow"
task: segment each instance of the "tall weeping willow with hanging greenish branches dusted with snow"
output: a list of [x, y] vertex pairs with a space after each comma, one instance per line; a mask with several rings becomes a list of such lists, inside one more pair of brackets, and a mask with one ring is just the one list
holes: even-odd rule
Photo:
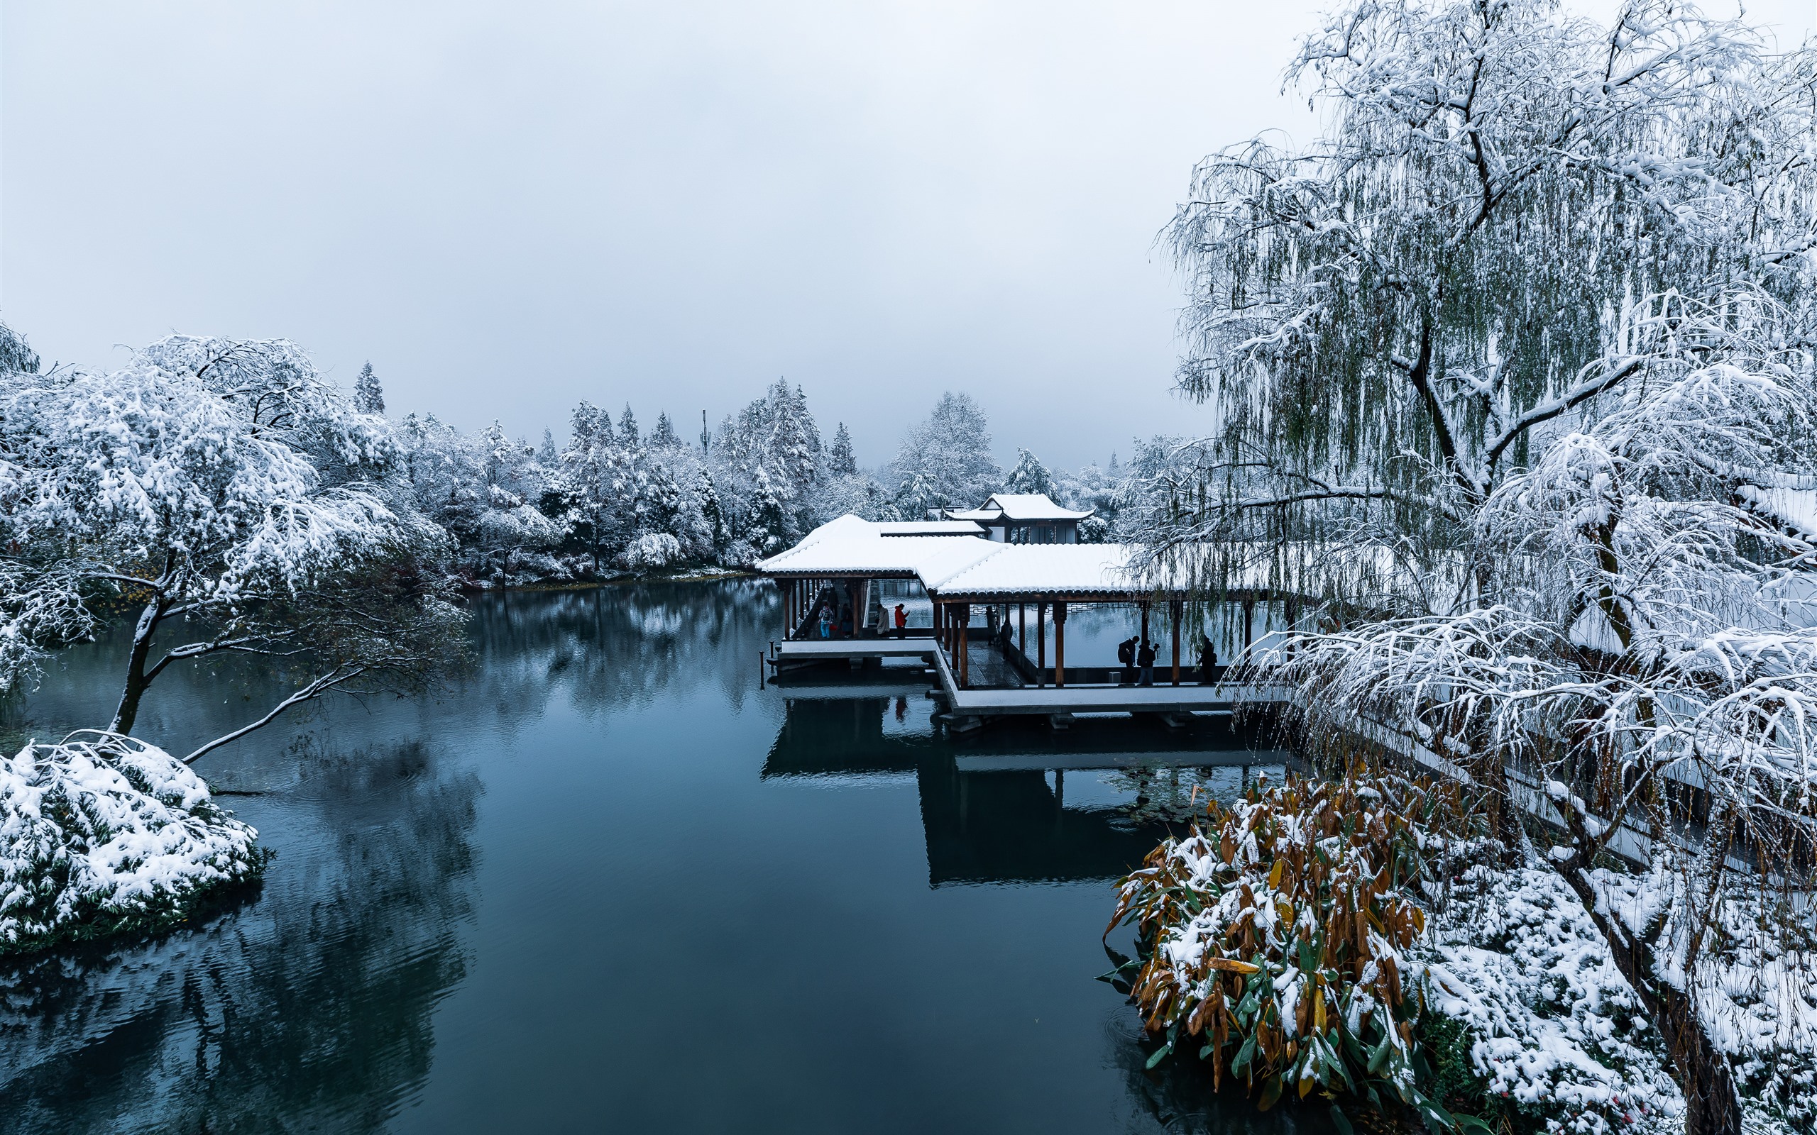
[[1286, 80], [1325, 136], [1212, 154], [1163, 236], [1190, 292], [1179, 385], [1221, 429], [1147, 454], [1143, 527], [1208, 587], [1265, 547], [1303, 590], [1470, 605], [1475, 508], [1644, 372], [1650, 298], [1810, 305], [1808, 49], [1663, 0], [1612, 27], [1386, 0], [1306, 36]]

